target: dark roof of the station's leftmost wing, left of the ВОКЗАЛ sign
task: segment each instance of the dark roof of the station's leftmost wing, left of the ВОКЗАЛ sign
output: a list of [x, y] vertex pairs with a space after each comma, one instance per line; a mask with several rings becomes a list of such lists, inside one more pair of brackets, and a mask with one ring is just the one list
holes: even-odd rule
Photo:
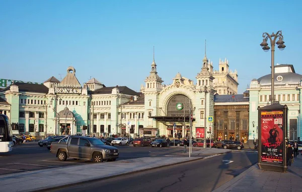
[[19, 88], [19, 92], [24, 91], [24, 92], [48, 93], [48, 88], [45, 85], [32, 84], [32, 83], [20, 83], [20, 82], [11, 84], [9, 87], [7, 87], [1, 91], [3, 92], [3, 91], [10, 90], [12, 85], [17, 85]]

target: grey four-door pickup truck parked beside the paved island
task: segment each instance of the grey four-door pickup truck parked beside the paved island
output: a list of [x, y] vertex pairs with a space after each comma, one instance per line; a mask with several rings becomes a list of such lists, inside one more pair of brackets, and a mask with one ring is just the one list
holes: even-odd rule
[[50, 153], [55, 154], [59, 161], [67, 158], [93, 160], [95, 163], [115, 161], [118, 149], [105, 145], [97, 138], [70, 136], [50, 145]]

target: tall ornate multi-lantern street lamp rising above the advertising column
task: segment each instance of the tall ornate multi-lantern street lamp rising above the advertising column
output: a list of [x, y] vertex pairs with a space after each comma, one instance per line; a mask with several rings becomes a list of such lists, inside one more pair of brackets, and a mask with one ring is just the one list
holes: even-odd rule
[[[278, 31], [276, 34], [272, 33], [271, 35], [268, 33], [263, 33], [262, 34], [263, 37], [263, 41], [260, 44], [260, 46], [262, 47], [262, 49], [267, 52], [270, 47], [268, 46], [267, 40], [269, 39], [271, 42], [271, 80], [272, 80], [272, 88], [271, 88], [271, 104], [273, 104], [274, 100], [275, 100], [275, 95], [274, 95], [274, 57], [275, 57], [275, 43], [278, 45], [278, 48], [280, 50], [283, 50], [286, 46], [284, 45], [284, 41], [283, 41], [283, 35], [282, 35], [282, 31]], [[276, 39], [279, 37], [279, 40], [276, 42]]]

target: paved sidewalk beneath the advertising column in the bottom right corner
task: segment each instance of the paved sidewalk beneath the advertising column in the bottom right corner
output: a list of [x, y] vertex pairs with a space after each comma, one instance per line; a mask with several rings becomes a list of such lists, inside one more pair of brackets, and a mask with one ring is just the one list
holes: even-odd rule
[[259, 169], [258, 165], [250, 167], [234, 179], [224, 183], [212, 192], [258, 192], [302, 191], [302, 156], [294, 158], [286, 173]]

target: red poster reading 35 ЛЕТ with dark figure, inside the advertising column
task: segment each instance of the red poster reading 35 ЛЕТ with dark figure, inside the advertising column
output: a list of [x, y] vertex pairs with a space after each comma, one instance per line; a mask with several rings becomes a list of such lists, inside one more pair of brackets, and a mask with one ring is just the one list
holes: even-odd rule
[[283, 111], [261, 111], [261, 161], [283, 162]]

